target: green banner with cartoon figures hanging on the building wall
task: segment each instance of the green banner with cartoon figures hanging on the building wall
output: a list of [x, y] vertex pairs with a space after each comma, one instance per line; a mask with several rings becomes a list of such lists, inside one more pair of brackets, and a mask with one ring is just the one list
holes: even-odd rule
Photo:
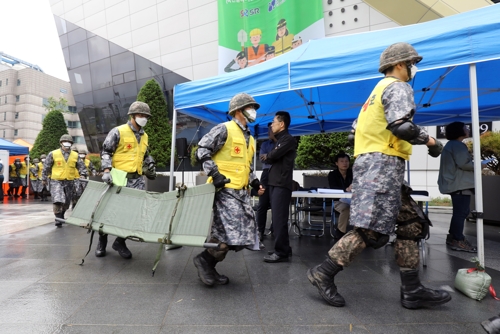
[[325, 37], [322, 0], [219, 0], [219, 74]]

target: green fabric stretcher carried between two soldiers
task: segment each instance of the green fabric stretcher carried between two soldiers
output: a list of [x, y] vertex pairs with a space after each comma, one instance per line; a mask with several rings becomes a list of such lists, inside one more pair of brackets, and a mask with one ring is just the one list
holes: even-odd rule
[[214, 194], [212, 184], [156, 193], [88, 181], [65, 222], [135, 241], [217, 247], [205, 243]]

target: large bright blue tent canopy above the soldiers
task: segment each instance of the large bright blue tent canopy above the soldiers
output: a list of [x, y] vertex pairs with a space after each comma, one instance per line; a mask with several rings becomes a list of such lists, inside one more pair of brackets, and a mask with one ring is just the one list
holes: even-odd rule
[[375, 83], [382, 51], [408, 42], [424, 59], [411, 84], [419, 125], [471, 120], [469, 64], [477, 64], [480, 121], [500, 120], [500, 5], [387, 30], [313, 40], [271, 61], [176, 85], [177, 111], [210, 123], [228, 119], [232, 96], [261, 104], [252, 133], [267, 136], [278, 110], [292, 116], [290, 132], [347, 131]]

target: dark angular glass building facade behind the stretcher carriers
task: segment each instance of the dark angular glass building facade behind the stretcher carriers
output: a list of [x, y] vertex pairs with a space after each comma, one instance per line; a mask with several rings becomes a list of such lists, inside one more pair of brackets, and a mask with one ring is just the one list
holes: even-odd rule
[[[188, 79], [58, 16], [54, 19], [89, 152], [100, 152], [108, 132], [127, 122], [129, 106], [150, 79], [162, 87], [172, 119], [173, 87]], [[188, 142], [197, 143], [206, 133], [199, 131], [199, 121], [178, 118], [177, 137], [193, 134], [196, 138]]]

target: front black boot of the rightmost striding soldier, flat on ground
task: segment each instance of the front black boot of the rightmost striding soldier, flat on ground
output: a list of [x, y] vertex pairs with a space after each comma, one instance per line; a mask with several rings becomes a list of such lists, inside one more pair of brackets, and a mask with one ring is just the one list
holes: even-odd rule
[[451, 296], [444, 290], [432, 290], [420, 283], [418, 270], [401, 271], [401, 304], [416, 309], [423, 306], [437, 306], [447, 303]]

